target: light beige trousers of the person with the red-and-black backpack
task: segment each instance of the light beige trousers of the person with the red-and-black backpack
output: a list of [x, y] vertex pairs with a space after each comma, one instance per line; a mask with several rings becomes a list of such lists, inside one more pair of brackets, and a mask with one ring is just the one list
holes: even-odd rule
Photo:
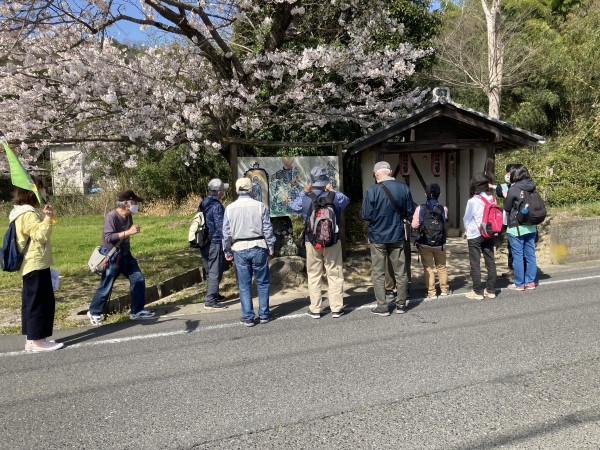
[[342, 243], [331, 247], [316, 249], [310, 242], [306, 243], [306, 273], [308, 275], [308, 295], [310, 311], [320, 313], [322, 307], [321, 278], [323, 268], [327, 273], [329, 285], [329, 307], [332, 312], [341, 311], [344, 307], [344, 271], [342, 262]]

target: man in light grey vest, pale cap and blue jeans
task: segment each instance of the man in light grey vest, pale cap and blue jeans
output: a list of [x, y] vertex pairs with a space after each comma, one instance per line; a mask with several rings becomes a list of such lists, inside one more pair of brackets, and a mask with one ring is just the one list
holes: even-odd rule
[[264, 203], [251, 198], [252, 181], [240, 178], [235, 182], [238, 199], [225, 208], [223, 219], [223, 250], [227, 261], [234, 261], [237, 271], [242, 323], [255, 325], [252, 307], [252, 274], [258, 291], [260, 323], [271, 319], [269, 310], [269, 256], [275, 250], [275, 235]]

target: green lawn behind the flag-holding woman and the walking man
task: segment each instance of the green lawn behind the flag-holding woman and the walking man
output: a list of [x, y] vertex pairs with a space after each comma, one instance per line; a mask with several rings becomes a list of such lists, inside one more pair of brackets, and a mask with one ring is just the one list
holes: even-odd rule
[[[141, 232], [131, 237], [131, 250], [138, 260], [146, 285], [150, 286], [179, 275], [201, 265], [197, 250], [188, 247], [187, 232], [191, 217], [136, 215], [135, 223]], [[0, 222], [2, 229], [8, 227], [8, 219]], [[89, 304], [100, 278], [87, 267], [93, 248], [100, 244], [102, 216], [59, 217], [52, 232], [54, 269], [60, 272], [60, 288], [56, 291], [55, 328], [68, 328], [68, 317], [73, 310]], [[10, 315], [3, 317], [6, 326], [0, 333], [20, 332], [21, 278], [15, 273], [0, 272], [0, 310]], [[113, 289], [113, 297], [129, 292], [129, 281], [119, 277]], [[115, 315], [112, 320], [125, 320], [127, 316]]]

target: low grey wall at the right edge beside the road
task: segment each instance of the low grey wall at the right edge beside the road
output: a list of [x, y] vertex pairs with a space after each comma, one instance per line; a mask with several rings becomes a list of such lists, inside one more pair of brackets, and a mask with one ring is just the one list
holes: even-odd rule
[[550, 255], [553, 264], [600, 260], [600, 217], [553, 220]]

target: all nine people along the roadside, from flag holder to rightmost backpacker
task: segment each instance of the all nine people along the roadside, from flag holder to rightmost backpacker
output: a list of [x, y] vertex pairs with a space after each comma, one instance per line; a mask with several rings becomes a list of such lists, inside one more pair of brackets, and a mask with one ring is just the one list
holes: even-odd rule
[[[376, 300], [371, 313], [379, 316], [389, 316], [392, 311], [403, 314], [408, 297], [405, 242], [409, 239], [405, 236], [404, 223], [409, 221], [412, 228], [418, 230], [416, 245], [424, 268], [428, 298], [437, 297], [434, 269], [439, 278], [440, 295], [445, 296], [450, 293], [444, 231], [448, 209], [439, 204], [441, 192], [435, 183], [426, 187], [426, 201], [415, 209], [409, 187], [392, 176], [391, 167], [385, 161], [375, 164], [373, 178], [375, 184], [367, 190], [361, 211], [362, 219], [368, 222], [371, 279]], [[527, 168], [522, 165], [507, 167], [505, 181], [503, 185], [494, 186], [483, 173], [477, 173], [471, 179], [472, 197], [467, 202], [463, 217], [473, 282], [473, 289], [467, 297], [471, 299], [496, 296], [494, 239], [483, 237], [480, 231], [485, 203], [495, 202], [494, 190], [498, 196], [504, 197], [506, 234], [512, 255], [509, 264], [514, 270], [514, 283], [509, 285], [509, 289], [523, 291], [536, 287], [536, 227], [520, 224], [517, 220], [522, 191], [535, 191], [535, 184]], [[44, 193], [40, 180], [36, 180], [36, 185]], [[250, 179], [244, 177], [236, 181], [238, 198], [224, 207], [222, 200], [228, 188], [229, 185], [220, 179], [211, 180], [208, 183], [208, 195], [198, 206], [208, 229], [208, 243], [200, 248], [207, 274], [204, 308], [227, 308], [223, 304], [224, 297], [219, 293], [219, 284], [225, 261], [233, 261], [242, 309], [241, 322], [248, 327], [257, 323], [252, 304], [254, 278], [258, 292], [258, 323], [265, 324], [271, 320], [269, 256], [273, 255], [275, 247], [269, 212], [261, 201], [253, 198]], [[140, 232], [140, 227], [133, 223], [132, 215], [138, 211], [142, 201], [132, 190], [120, 192], [116, 208], [104, 219], [100, 252], [110, 257], [87, 313], [93, 325], [102, 323], [103, 309], [120, 274], [130, 282], [130, 319], [144, 320], [155, 316], [154, 312], [144, 308], [145, 279], [130, 250], [131, 236]], [[304, 218], [307, 231], [302, 238], [306, 247], [310, 297], [307, 315], [313, 319], [320, 319], [323, 314], [323, 274], [327, 276], [331, 316], [342, 317], [346, 310], [339, 228], [335, 225], [335, 229], [329, 230], [331, 239], [322, 245], [321, 241], [315, 240], [314, 230], [309, 230], [308, 225], [316, 205], [330, 207], [334, 216], [331, 221], [337, 224], [341, 212], [349, 203], [346, 195], [333, 189], [327, 170], [319, 166], [310, 171], [310, 180], [305, 182], [303, 191], [289, 201], [289, 208]], [[46, 203], [40, 214], [36, 210], [40, 204], [35, 193], [21, 188], [15, 191], [14, 205], [10, 221], [15, 221], [19, 249], [27, 249], [19, 269], [23, 278], [22, 333], [27, 336], [25, 350], [57, 350], [63, 344], [47, 339], [52, 335], [55, 308], [50, 276], [53, 262], [50, 236], [55, 223], [54, 213]], [[487, 269], [485, 283], [481, 280], [481, 254]]]

